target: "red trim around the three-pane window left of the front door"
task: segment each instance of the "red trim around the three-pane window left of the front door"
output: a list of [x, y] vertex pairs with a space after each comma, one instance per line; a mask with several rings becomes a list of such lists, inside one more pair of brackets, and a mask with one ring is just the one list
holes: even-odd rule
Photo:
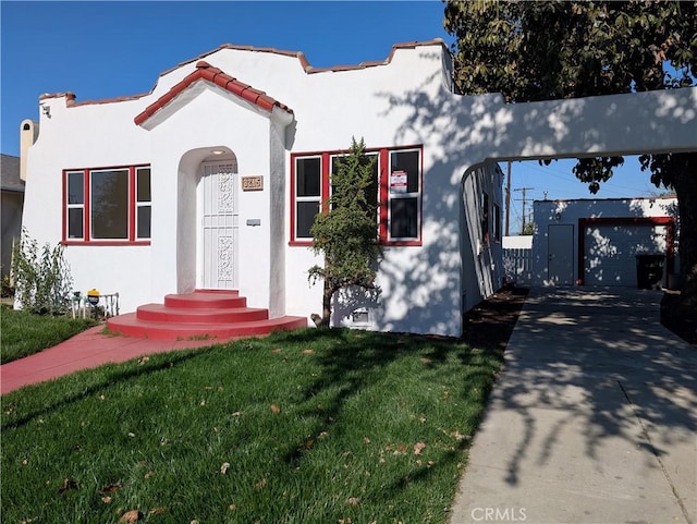
[[[150, 245], [149, 239], [137, 239], [136, 231], [136, 208], [137, 208], [137, 180], [136, 172], [139, 168], [149, 168], [149, 163], [135, 163], [132, 166], [106, 166], [98, 168], [75, 168], [63, 169], [62, 171], [62, 184], [63, 184], [63, 231], [61, 245], [89, 245], [89, 246], [131, 246], [131, 245]], [[90, 229], [90, 183], [91, 172], [94, 171], [109, 171], [109, 170], [129, 170], [129, 237], [119, 240], [98, 240], [91, 237]], [[68, 173], [83, 173], [83, 240], [69, 239], [68, 237]]]

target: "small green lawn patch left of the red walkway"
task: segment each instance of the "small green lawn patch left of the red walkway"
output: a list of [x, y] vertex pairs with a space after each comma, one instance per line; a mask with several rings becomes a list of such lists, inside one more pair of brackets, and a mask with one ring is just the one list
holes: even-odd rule
[[7, 307], [0, 308], [2, 341], [0, 363], [22, 358], [51, 348], [96, 322], [90, 319], [32, 315]]

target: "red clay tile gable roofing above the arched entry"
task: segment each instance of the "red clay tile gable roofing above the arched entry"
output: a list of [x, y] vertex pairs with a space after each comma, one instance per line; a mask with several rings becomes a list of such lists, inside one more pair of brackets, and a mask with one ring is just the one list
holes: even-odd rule
[[293, 113], [292, 109], [290, 109], [284, 103], [281, 103], [278, 100], [271, 98], [266, 93], [255, 89], [254, 87], [240, 82], [237, 78], [233, 78], [232, 76], [223, 73], [218, 68], [213, 68], [208, 62], [200, 60], [196, 64], [196, 71], [186, 75], [184, 80], [174, 85], [155, 102], [150, 103], [140, 114], [138, 114], [134, 119], [136, 125], [143, 124], [146, 120], [148, 120], [156, 112], [162, 109], [167, 103], [172, 101], [180, 93], [182, 93], [194, 82], [197, 82], [199, 80], [205, 80], [207, 82], [216, 84], [217, 86], [229, 90], [233, 95], [244, 98], [245, 100], [260, 107], [261, 109], [265, 109], [266, 111], [271, 111], [274, 107], [278, 107], [285, 112], [289, 112], [291, 114]]

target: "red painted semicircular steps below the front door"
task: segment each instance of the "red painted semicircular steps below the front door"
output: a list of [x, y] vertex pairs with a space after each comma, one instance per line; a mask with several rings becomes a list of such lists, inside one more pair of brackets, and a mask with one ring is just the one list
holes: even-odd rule
[[154, 340], [232, 339], [307, 327], [303, 317], [269, 318], [268, 309], [247, 307], [237, 291], [196, 290], [170, 294], [164, 304], [146, 304], [135, 313], [107, 320], [115, 333]]

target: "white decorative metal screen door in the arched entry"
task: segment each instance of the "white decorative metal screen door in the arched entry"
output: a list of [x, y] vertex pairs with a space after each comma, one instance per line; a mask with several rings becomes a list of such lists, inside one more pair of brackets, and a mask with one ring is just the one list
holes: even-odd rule
[[206, 163], [199, 184], [204, 289], [237, 285], [237, 174], [235, 163]]

